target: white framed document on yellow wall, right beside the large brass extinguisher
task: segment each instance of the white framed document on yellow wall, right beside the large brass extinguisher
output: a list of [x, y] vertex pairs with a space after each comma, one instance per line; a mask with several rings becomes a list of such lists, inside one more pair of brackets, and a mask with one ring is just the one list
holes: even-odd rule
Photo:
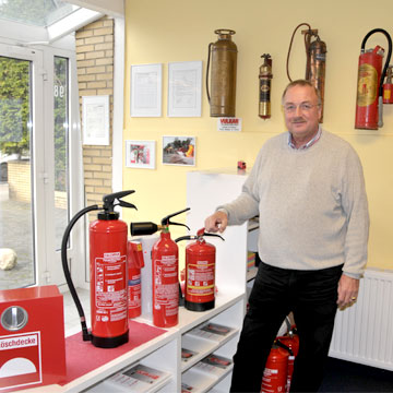
[[168, 64], [168, 117], [201, 117], [202, 61]]

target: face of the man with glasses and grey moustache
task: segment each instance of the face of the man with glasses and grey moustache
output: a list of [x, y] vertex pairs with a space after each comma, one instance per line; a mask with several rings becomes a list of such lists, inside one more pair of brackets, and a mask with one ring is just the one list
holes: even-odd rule
[[321, 118], [318, 96], [310, 86], [290, 87], [283, 100], [285, 124], [295, 140], [308, 142], [317, 133]]

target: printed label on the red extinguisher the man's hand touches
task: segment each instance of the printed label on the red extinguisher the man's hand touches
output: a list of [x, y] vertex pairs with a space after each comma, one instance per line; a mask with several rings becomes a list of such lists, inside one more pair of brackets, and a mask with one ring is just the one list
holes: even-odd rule
[[214, 295], [214, 263], [198, 261], [188, 266], [187, 295], [212, 296]]

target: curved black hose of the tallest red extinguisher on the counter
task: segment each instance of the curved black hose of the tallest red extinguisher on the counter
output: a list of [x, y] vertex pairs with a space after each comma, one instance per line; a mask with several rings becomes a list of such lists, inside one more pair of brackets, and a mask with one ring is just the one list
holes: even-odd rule
[[79, 213], [76, 213], [75, 216], [70, 221], [69, 225], [67, 226], [63, 238], [62, 238], [62, 241], [61, 241], [62, 267], [63, 267], [67, 284], [68, 284], [68, 286], [70, 288], [71, 296], [72, 296], [72, 298], [73, 298], [73, 300], [75, 302], [78, 313], [79, 313], [80, 319], [81, 319], [83, 341], [91, 341], [92, 336], [88, 333], [87, 325], [86, 325], [86, 318], [85, 318], [85, 314], [84, 314], [84, 311], [83, 311], [83, 307], [81, 305], [81, 301], [80, 301], [80, 299], [78, 297], [75, 287], [74, 287], [74, 285], [72, 283], [72, 279], [71, 279], [70, 270], [69, 270], [69, 266], [68, 266], [68, 263], [67, 263], [67, 245], [68, 245], [68, 241], [69, 241], [69, 238], [70, 238], [71, 229], [76, 224], [78, 219], [81, 218], [86, 213], [95, 211], [95, 210], [99, 210], [99, 209], [102, 209], [102, 207], [99, 207], [98, 205], [93, 205], [93, 206], [82, 209]]

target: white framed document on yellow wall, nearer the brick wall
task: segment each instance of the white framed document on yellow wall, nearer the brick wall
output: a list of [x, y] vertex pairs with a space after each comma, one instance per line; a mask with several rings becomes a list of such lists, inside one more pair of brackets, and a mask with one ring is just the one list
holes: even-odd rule
[[163, 64], [131, 66], [131, 117], [162, 116]]

